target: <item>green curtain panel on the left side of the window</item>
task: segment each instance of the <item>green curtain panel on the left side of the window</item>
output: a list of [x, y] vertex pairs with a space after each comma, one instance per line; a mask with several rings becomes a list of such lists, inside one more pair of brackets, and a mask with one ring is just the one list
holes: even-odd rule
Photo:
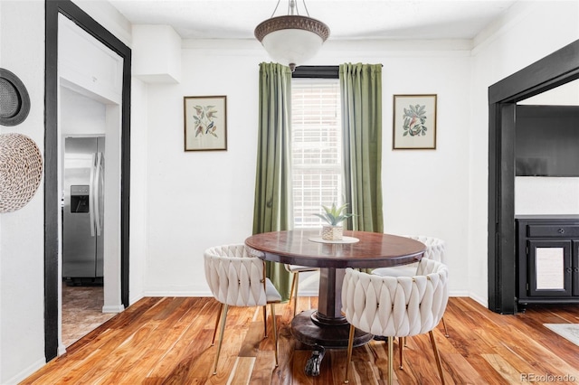
[[[291, 70], [278, 63], [260, 64], [260, 122], [253, 207], [253, 234], [289, 230], [291, 219]], [[267, 262], [267, 277], [284, 301], [289, 272]]]

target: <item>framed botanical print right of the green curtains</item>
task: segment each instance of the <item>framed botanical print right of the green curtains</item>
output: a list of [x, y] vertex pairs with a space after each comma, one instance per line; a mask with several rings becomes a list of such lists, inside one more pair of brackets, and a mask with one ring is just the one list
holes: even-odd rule
[[436, 149], [436, 94], [394, 95], [394, 150]]

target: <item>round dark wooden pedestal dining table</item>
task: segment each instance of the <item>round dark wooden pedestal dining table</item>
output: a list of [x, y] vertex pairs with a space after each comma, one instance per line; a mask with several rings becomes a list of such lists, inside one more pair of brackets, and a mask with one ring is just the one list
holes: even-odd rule
[[[314, 347], [306, 372], [319, 373], [326, 348], [347, 347], [349, 324], [342, 315], [342, 281], [346, 268], [385, 268], [422, 258], [426, 246], [418, 240], [368, 231], [344, 231], [342, 241], [328, 242], [320, 230], [272, 231], [253, 235], [245, 244], [264, 253], [264, 259], [319, 268], [318, 309], [301, 312], [291, 331], [301, 343]], [[356, 329], [355, 346], [372, 334]]]

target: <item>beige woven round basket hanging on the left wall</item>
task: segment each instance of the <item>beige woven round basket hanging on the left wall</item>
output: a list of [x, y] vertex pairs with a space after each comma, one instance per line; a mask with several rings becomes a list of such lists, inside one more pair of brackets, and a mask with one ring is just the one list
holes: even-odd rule
[[21, 134], [0, 135], [0, 212], [28, 203], [43, 177], [43, 156], [34, 141]]

